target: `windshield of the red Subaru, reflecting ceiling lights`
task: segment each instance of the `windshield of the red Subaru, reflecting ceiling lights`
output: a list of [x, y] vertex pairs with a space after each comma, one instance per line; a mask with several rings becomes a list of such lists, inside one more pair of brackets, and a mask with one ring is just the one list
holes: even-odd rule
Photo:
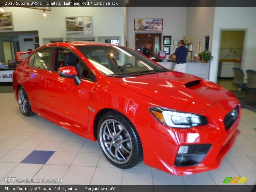
[[143, 75], [169, 71], [139, 53], [118, 46], [77, 46], [104, 75]]

